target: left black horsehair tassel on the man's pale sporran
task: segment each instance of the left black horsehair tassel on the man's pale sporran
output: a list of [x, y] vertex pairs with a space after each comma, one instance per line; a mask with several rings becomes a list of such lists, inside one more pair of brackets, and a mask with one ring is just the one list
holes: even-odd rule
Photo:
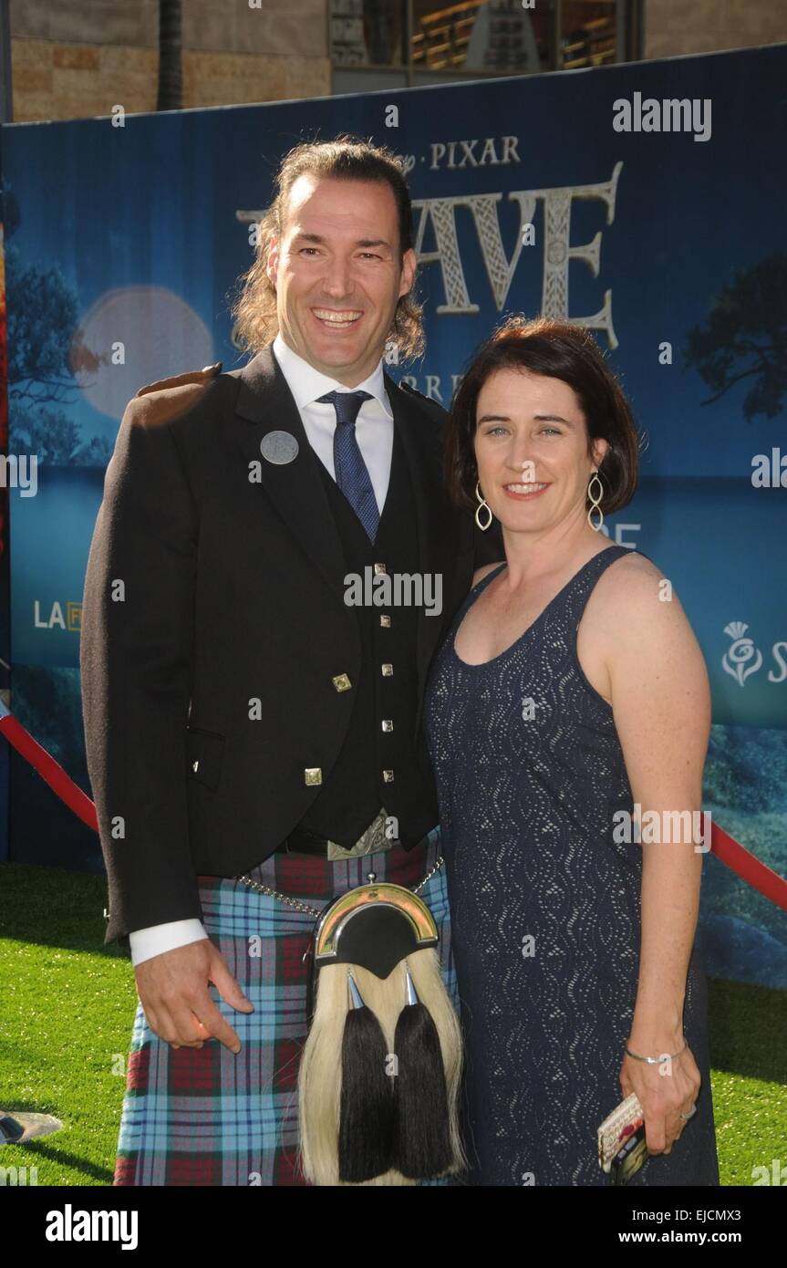
[[349, 1011], [342, 1036], [338, 1178], [359, 1184], [392, 1167], [395, 1097], [385, 1073], [388, 1045], [378, 1018], [347, 970]]

